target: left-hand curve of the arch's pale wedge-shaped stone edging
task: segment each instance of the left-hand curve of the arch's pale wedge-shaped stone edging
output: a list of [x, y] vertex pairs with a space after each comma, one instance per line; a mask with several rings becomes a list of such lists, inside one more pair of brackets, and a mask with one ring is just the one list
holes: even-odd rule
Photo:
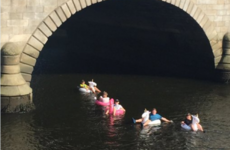
[[76, 12], [102, 0], [68, 0], [54, 9], [31, 34], [20, 56], [21, 74], [28, 84], [32, 79], [33, 67], [40, 51], [53, 32]]

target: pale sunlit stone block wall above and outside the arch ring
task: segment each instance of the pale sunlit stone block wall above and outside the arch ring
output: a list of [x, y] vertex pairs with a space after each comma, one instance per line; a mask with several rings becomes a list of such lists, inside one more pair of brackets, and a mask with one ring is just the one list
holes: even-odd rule
[[[71, 0], [1, 0], [1, 46], [27, 41], [38, 25], [56, 8]], [[74, 2], [76, 0], [73, 0]], [[79, 0], [81, 4], [101, 0]], [[163, 0], [184, 5], [188, 0]], [[190, 0], [216, 25], [221, 40], [230, 31], [230, 0]], [[81, 6], [83, 7], [83, 5]], [[198, 12], [199, 13], [199, 12]]]

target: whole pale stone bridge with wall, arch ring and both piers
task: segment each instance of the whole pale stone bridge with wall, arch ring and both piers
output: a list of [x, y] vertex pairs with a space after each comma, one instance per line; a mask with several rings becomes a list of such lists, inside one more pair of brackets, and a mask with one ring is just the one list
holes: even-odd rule
[[[221, 78], [230, 79], [230, 0], [158, 0], [189, 14], [203, 29]], [[2, 111], [32, 102], [30, 82], [39, 53], [68, 18], [102, 0], [1, 1]], [[119, 11], [119, 10], [118, 10]]]

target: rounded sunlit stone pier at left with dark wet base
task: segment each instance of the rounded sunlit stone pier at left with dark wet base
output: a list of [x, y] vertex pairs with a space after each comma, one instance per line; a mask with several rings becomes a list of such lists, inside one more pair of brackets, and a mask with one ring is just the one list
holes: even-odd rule
[[20, 71], [19, 43], [6, 43], [1, 49], [1, 112], [22, 112], [34, 108], [32, 89]]

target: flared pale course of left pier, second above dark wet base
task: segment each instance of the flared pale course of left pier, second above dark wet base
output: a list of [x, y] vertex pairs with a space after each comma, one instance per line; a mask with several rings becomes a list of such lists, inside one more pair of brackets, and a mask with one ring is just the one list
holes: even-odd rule
[[20, 73], [18, 74], [2, 74], [1, 85], [22, 85], [25, 80]]

